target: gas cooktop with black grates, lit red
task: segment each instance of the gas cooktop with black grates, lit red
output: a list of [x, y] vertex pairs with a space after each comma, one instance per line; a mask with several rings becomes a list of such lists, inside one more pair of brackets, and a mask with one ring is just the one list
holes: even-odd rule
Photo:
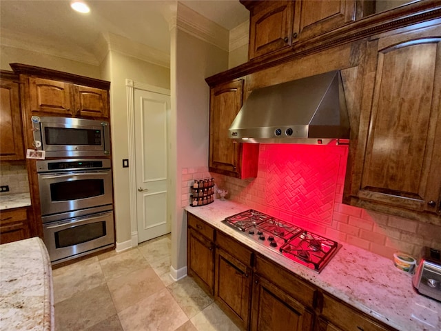
[[223, 222], [316, 272], [322, 271], [338, 250], [336, 241], [253, 209], [227, 217]]

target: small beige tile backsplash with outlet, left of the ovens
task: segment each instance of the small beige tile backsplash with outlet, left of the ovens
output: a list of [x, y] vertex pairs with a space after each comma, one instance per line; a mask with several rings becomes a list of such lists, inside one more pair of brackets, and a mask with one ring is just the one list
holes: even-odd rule
[[9, 192], [2, 194], [28, 193], [29, 181], [26, 164], [0, 164], [0, 185], [9, 185]]

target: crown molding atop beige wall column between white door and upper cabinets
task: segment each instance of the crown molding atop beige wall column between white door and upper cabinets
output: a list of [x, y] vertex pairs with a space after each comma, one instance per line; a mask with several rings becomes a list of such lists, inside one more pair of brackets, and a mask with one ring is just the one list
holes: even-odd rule
[[229, 31], [178, 2], [176, 26], [192, 36], [229, 51]]

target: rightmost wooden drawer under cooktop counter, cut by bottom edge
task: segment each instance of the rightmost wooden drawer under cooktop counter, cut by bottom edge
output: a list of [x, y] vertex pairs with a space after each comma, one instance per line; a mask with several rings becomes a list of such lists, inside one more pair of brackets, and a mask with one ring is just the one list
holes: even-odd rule
[[361, 312], [340, 303], [340, 301], [329, 297], [327, 294], [323, 294], [322, 316], [342, 330], [395, 330], [393, 328], [382, 327], [375, 321], [371, 321], [367, 317], [362, 316]]

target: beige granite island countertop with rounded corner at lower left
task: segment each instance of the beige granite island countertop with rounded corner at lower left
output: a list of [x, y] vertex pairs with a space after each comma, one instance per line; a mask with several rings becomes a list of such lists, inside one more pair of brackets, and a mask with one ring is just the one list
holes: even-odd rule
[[0, 245], [0, 330], [54, 330], [52, 268], [39, 237]]

